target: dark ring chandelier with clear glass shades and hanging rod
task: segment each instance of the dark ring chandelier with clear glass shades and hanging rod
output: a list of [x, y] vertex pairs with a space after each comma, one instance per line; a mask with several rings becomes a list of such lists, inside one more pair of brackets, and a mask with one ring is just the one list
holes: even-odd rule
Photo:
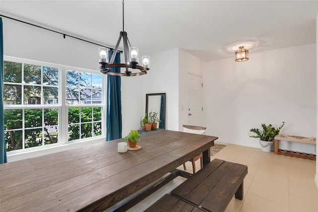
[[[124, 51], [123, 54], [125, 56], [125, 63], [124, 64], [114, 64], [114, 60], [116, 57], [116, 52], [118, 51], [118, 46], [123, 38], [124, 43]], [[150, 68], [150, 57], [149, 56], [142, 56], [142, 66], [138, 65], [139, 62], [139, 55], [138, 55], [138, 48], [131, 47], [130, 42], [127, 37], [127, 32], [124, 30], [124, 0], [123, 0], [123, 31], [120, 32], [116, 47], [114, 52], [108, 61], [108, 48], [99, 48], [99, 64], [100, 72], [103, 74], [108, 75], [115, 75], [115, 76], [139, 76], [147, 74], [147, 71]], [[124, 68], [125, 72], [117, 73], [114, 71], [113, 68]], [[132, 69], [137, 70], [138, 72], [133, 73]]]

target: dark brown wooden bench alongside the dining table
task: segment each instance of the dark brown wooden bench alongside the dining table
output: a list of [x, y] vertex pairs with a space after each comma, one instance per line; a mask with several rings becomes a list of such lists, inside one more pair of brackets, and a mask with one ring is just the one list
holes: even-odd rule
[[246, 174], [245, 165], [214, 159], [147, 211], [186, 209], [192, 212], [224, 212], [234, 195], [239, 200], [243, 199], [243, 180]]

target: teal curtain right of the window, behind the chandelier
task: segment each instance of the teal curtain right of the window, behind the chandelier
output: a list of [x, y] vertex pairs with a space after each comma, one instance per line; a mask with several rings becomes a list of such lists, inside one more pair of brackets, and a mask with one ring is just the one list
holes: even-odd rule
[[[109, 60], [113, 51], [109, 52]], [[120, 52], [117, 52], [114, 63], [120, 63]], [[112, 68], [112, 71], [120, 73], [120, 68]], [[121, 138], [121, 81], [120, 76], [107, 75], [107, 100], [106, 100], [106, 141]]]

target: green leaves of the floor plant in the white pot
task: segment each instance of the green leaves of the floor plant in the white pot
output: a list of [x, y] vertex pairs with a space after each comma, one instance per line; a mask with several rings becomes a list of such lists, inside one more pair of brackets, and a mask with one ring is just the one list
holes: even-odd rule
[[278, 135], [279, 131], [281, 128], [284, 126], [285, 122], [283, 121], [282, 124], [278, 127], [275, 128], [272, 126], [272, 124], [266, 125], [266, 124], [261, 124], [262, 129], [250, 129], [250, 132], [254, 132], [256, 135], [250, 135], [249, 137], [251, 138], [259, 138], [262, 141], [273, 141], [275, 136]]

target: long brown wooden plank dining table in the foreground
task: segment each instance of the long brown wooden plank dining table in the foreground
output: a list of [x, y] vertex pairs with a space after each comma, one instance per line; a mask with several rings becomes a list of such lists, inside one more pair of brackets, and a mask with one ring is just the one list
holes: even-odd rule
[[118, 153], [117, 139], [0, 164], [0, 212], [107, 210], [201, 152], [208, 164], [217, 138], [156, 130], [138, 151]]

